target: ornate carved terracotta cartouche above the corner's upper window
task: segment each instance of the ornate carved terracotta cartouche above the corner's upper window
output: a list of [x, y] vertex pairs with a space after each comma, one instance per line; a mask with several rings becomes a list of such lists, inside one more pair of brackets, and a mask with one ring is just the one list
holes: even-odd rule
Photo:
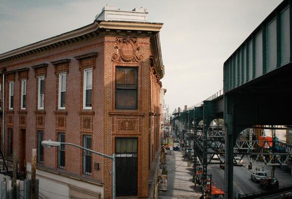
[[112, 61], [142, 62], [143, 60], [143, 56], [137, 52], [140, 47], [136, 38], [117, 37], [115, 49], [117, 49], [117, 53], [112, 54]]

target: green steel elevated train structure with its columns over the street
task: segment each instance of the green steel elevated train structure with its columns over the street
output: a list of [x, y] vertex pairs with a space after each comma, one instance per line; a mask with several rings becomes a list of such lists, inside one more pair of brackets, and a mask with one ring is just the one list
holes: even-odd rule
[[[223, 92], [172, 118], [172, 125], [180, 124], [183, 134], [192, 126], [195, 154], [203, 164], [204, 174], [207, 174], [207, 154], [210, 153], [207, 150], [209, 124], [214, 119], [224, 119], [226, 198], [233, 196], [234, 147], [240, 146], [236, 144], [240, 132], [257, 125], [292, 125], [291, 42], [292, 1], [284, 0], [225, 61]], [[196, 139], [200, 121], [203, 121], [202, 136]], [[274, 156], [266, 163], [285, 164], [284, 158], [278, 157], [292, 155], [291, 146], [275, 140], [273, 143]], [[277, 153], [285, 147], [284, 153]], [[263, 153], [258, 152], [258, 155]]]

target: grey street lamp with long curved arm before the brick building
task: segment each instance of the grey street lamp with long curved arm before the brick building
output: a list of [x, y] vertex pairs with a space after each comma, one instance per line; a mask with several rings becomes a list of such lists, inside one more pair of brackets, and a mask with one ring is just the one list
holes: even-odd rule
[[103, 153], [100, 153], [100, 152], [97, 152], [97, 151], [93, 151], [93, 150], [84, 148], [82, 146], [76, 145], [76, 144], [67, 143], [67, 142], [55, 142], [55, 141], [51, 141], [51, 140], [48, 140], [48, 141], [44, 140], [44, 141], [42, 141], [42, 145], [45, 148], [51, 148], [51, 147], [61, 146], [61, 144], [75, 146], [75, 147], [81, 148], [83, 150], [86, 150], [86, 151], [90, 151], [92, 153], [95, 153], [95, 154], [97, 154], [99, 156], [102, 156], [102, 157], [111, 159], [113, 161], [113, 199], [115, 199], [116, 198], [116, 156], [115, 156], [115, 154], [113, 154], [113, 156], [109, 156], [109, 155], [106, 155], [106, 154], [103, 154]]

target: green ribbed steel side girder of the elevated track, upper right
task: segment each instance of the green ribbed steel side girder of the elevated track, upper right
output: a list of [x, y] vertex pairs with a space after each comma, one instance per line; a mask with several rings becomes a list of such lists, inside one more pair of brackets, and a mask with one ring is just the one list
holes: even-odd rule
[[283, 1], [224, 63], [224, 93], [290, 63], [292, 5]]

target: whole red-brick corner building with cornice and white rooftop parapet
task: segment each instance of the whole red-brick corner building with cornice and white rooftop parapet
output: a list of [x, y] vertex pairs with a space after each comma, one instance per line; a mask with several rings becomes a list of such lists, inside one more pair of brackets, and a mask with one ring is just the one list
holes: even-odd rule
[[49, 198], [111, 198], [112, 162], [43, 140], [116, 153], [117, 195], [151, 197], [164, 66], [163, 24], [147, 15], [105, 7], [90, 25], [0, 55], [1, 144], [28, 174], [37, 149], [39, 191]]

